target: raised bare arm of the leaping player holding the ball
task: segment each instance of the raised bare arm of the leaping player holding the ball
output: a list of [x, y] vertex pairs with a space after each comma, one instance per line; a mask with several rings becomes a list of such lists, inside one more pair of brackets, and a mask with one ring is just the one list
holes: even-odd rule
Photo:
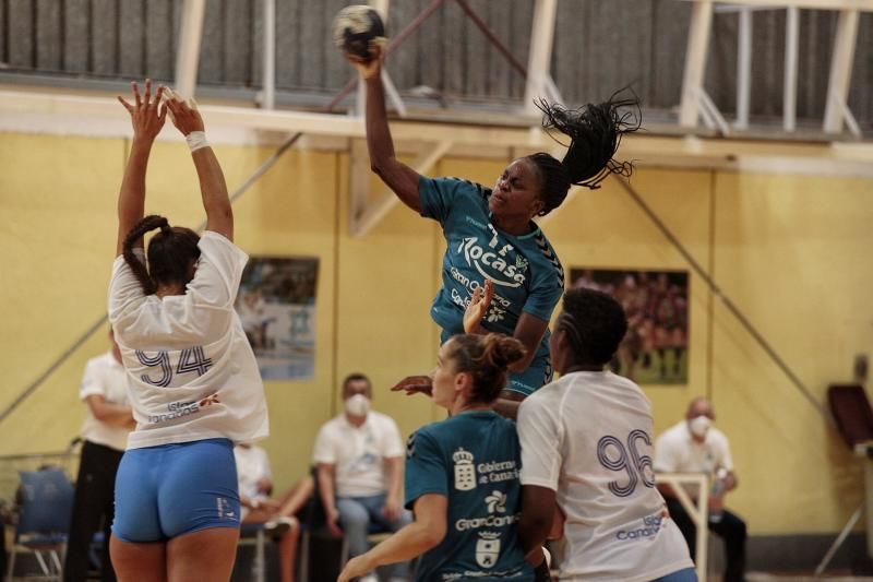
[[385, 88], [382, 86], [382, 48], [373, 47], [373, 57], [363, 60], [346, 52], [367, 87], [367, 147], [370, 151], [370, 167], [382, 178], [400, 201], [416, 212], [421, 212], [418, 198], [420, 175], [399, 162], [394, 155], [394, 140], [388, 129], [385, 111]]

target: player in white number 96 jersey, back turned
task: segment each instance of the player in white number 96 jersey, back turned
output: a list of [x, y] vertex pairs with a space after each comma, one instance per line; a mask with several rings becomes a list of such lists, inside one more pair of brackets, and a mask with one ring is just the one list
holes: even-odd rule
[[694, 565], [666, 516], [651, 471], [651, 404], [605, 371], [627, 330], [621, 306], [594, 289], [564, 294], [549, 347], [561, 378], [518, 412], [518, 536], [542, 571], [555, 508], [565, 516], [561, 581], [692, 582]]

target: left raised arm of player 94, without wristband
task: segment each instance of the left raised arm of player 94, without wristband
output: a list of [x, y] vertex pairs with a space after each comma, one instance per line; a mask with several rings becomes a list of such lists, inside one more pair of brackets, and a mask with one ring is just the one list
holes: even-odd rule
[[[158, 87], [152, 98], [152, 80], [145, 80], [145, 93], [140, 95], [140, 87], [134, 81], [131, 85], [133, 103], [127, 102], [121, 95], [118, 100], [130, 114], [133, 126], [133, 140], [131, 141], [130, 156], [124, 168], [124, 178], [121, 180], [121, 190], [118, 193], [118, 240], [116, 256], [123, 252], [124, 238], [133, 226], [139, 223], [145, 209], [145, 170], [148, 166], [148, 155], [152, 144], [160, 133], [167, 116], [166, 106], [160, 106], [160, 96], [164, 87]], [[133, 244], [142, 248], [142, 239]]]

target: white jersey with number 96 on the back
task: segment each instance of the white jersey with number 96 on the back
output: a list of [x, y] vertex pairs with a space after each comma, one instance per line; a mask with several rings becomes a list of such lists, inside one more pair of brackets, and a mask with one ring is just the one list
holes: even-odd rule
[[573, 372], [522, 403], [522, 485], [557, 491], [561, 580], [644, 581], [693, 568], [651, 470], [651, 404], [612, 372]]

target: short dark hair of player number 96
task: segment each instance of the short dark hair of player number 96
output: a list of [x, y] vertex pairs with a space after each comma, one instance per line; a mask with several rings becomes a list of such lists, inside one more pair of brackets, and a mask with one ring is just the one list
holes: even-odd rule
[[606, 293], [585, 287], [564, 294], [554, 331], [565, 332], [576, 361], [606, 364], [627, 333], [621, 305]]

